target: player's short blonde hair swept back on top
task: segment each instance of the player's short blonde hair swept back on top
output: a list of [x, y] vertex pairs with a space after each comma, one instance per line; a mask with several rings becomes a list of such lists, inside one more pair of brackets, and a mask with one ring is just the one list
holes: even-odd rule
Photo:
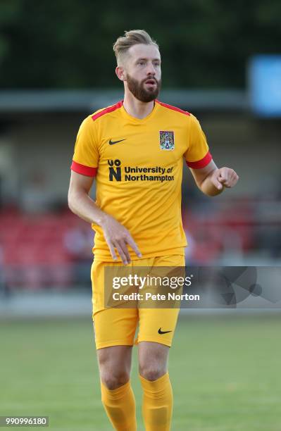
[[113, 51], [118, 65], [123, 64], [130, 46], [137, 44], [154, 45], [159, 49], [157, 42], [151, 39], [145, 30], [130, 30], [129, 32], [125, 32], [125, 36], [118, 37], [115, 44], [113, 44]]

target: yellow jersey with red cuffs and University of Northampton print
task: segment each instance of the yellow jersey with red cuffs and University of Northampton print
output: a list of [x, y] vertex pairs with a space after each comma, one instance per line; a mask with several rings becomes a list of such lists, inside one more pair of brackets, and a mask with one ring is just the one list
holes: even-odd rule
[[[211, 159], [191, 113], [156, 100], [151, 113], [139, 119], [119, 101], [82, 122], [71, 169], [96, 177], [96, 205], [130, 231], [142, 257], [148, 258], [184, 254], [183, 162], [204, 168]], [[113, 261], [101, 227], [92, 223], [92, 228], [95, 259]]]

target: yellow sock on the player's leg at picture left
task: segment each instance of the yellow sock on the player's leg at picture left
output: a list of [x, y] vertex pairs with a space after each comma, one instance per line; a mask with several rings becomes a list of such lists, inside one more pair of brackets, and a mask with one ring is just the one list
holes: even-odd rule
[[115, 430], [137, 430], [135, 395], [130, 380], [117, 389], [108, 389], [101, 382], [101, 401]]

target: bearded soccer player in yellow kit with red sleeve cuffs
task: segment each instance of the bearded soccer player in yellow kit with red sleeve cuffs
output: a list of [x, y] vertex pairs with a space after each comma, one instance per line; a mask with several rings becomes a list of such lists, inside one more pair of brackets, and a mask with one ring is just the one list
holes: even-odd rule
[[[106, 308], [104, 268], [185, 266], [181, 218], [182, 165], [204, 194], [233, 187], [238, 175], [217, 168], [199, 121], [157, 99], [161, 56], [144, 30], [125, 32], [113, 46], [124, 100], [82, 122], [71, 165], [68, 205], [96, 232], [92, 304], [101, 400], [113, 428], [137, 430], [130, 385], [138, 346], [146, 431], [170, 430], [173, 392], [168, 352], [178, 308]], [[89, 197], [96, 178], [96, 202]], [[139, 325], [137, 339], [136, 327]]]

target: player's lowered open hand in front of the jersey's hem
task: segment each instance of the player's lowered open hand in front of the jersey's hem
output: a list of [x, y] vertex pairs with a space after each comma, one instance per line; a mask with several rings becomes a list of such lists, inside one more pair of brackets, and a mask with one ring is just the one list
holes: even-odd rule
[[129, 250], [127, 249], [127, 244], [132, 247], [139, 258], [142, 257], [142, 254], [134, 239], [132, 239], [130, 232], [111, 215], [106, 214], [100, 226], [104, 231], [104, 238], [106, 239], [111, 256], [114, 260], [117, 259], [115, 254], [116, 249], [124, 265], [130, 263], [131, 259]]

